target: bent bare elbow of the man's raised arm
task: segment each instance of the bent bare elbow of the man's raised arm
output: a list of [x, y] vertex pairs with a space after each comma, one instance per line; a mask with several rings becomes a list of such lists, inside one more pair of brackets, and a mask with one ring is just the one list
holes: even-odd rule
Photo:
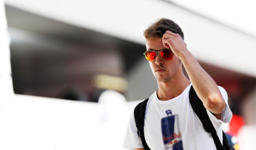
[[212, 94], [208, 96], [206, 109], [214, 114], [220, 114], [225, 108], [225, 101], [221, 94]]

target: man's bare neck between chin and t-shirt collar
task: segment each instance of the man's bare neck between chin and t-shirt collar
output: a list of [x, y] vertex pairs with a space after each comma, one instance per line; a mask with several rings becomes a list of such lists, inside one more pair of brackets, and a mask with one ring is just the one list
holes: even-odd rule
[[185, 75], [179, 78], [172, 78], [166, 82], [158, 82], [157, 95], [161, 101], [167, 101], [179, 96], [190, 84]]

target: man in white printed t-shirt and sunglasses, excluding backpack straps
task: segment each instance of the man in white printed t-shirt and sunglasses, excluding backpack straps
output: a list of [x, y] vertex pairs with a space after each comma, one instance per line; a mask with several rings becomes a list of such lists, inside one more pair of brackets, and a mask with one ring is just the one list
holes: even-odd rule
[[[144, 37], [147, 49], [144, 54], [158, 83], [158, 89], [149, 97], [145, 112], [144, 135], [149, 148], [216, 150], [213, 138], [204, 130], [190, 105], [189, 91], [193, 85], [220, 141], [222, 123], [228, 123], [232, 118], [226, 91], [217, 86], [187, 50], [183, 31], [172, 20], [161, 18], [156, 21], [144, 31]], [[183, 73], [182, 64], [189, 79]], [[177, 143], [179, 146], [175, 148]], [[123, 147], [144, 150], [133, 113]]]

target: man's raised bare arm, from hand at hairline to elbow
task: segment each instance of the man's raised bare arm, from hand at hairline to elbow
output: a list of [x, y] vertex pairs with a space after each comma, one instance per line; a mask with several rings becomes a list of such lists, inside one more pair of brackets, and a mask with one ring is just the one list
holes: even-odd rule
[[190, 78], [194, 90], [203, 101], [204, 107], [220, 119], [221, 112], [225, 108], [225, 101], [217, 84], [209, 74], [199, 65], [197, 60], [187, 50], [187, 45], [180, 35], [166, 31], [162, 39], [165, 47], [171, 48], [174, 54], [181, 60]]

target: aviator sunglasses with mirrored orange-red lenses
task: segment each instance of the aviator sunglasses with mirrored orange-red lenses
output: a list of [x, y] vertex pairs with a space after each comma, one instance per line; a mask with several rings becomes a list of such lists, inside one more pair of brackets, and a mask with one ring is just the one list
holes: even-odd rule
[[[159, 52], [157, 52], [157, 51], [159, 51]], [[173, 52], [171, 51], [171, 49], [154, 50], [154, 51], [149, 50], [149, 51], [145, 51], [144, 55], [147, 60], [153, 61], [153, 60], [155, 60], [158, 53], [165, 60], [171, 60], [173, 58]]]

